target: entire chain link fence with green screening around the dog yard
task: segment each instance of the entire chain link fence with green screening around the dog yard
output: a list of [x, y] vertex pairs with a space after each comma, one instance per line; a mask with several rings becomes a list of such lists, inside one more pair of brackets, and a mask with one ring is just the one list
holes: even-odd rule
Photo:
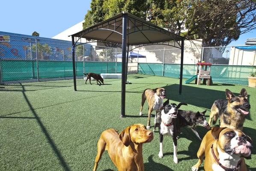
[[[144, 48], [128, 54], [128, 73], [179, 78], [180, 50]], [[122, 73], [120, 48], [82, 44], [75, 47], [76, 76], [83, 73]], [[256, 69], [256, 47], [186, 47], [183, 77], [196, 74], [196, 63], [211, 62], [214, 82], [247, 85]], [[0, 83], [72, 79], [70, 41], [0, 34]]]

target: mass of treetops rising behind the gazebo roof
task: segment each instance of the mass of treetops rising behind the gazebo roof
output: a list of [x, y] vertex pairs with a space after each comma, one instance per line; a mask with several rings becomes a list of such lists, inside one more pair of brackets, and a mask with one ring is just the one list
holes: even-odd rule
[[187, 39], [202, 38], [206, 47], [226, 46], [256, 28], [256, 0], [92, 0], [83, 28], [123, 10]]

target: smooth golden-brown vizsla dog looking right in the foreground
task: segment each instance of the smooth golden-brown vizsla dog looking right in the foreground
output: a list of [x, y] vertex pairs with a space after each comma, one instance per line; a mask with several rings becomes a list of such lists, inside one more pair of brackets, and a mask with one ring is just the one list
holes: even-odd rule
[[131, 125], [120, 134], [113, 129], [103, 131], [98, 140], [93, 171], [96, 171], [104, 150], [108, 151], [118, 171], [144, 171], [142, 144], [152, 139], [153, 133], [142, 124]]

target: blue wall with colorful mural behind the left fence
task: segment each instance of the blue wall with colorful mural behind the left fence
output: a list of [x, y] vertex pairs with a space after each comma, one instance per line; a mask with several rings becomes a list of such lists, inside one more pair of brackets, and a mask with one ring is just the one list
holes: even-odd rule
[[[71, 41], [42, 38], [0, 31], [0, 59], [39, 59], [71, 61]], [[84, 56], [89, 56], [91, 45], [80, 48]], [[84, 52], [83, 52], [84, 51]]]

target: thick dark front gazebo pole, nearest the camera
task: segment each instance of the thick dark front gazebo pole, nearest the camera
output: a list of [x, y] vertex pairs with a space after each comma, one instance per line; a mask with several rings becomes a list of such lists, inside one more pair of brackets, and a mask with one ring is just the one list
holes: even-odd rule
[[126, 78], [126, 37], [127, 37], [127, 14], [122, 18], [122, 92], [121, 92], [121, 118], [125, 117], [125, 78]]

